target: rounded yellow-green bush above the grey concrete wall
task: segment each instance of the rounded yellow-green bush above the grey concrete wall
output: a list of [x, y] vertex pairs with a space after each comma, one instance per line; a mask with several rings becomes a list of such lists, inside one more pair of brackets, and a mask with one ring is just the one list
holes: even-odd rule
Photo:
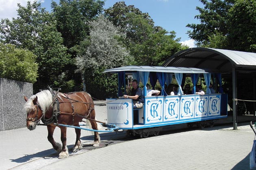
[[14, 45], [0, 43], [0, 77], [16, 81], [35, 83], [38, 65], [36, 56]]

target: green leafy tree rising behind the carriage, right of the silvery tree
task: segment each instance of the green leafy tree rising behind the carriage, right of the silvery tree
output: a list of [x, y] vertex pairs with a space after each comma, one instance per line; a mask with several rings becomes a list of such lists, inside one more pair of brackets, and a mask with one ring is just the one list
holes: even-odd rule
[[134, 56], [134, 65], [160, 66], [174, 53], [188, 48], [182, 46], [174, 31], [154, 26], [148, 13], [142, 13], [134, 6], [117, 2], [105, 10], [105, 16], [126, 35], [124, 44]]

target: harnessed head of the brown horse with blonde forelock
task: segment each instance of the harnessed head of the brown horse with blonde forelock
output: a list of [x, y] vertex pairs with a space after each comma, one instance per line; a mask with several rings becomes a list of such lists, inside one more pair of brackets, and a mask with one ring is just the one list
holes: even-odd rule
[[24, 109], [27, 113], [27, 128], [29, 130], [34, 130], [38, 123], [38, 120], [42, 117], [43, 111], [37, 102], [37, 96], [32, 96], [31, 98], [27, 98], [24, 96], [26, 104]]

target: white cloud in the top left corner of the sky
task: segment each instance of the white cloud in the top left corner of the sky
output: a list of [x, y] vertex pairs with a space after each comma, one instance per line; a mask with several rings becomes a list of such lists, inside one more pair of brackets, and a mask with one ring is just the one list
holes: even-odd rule
[[[34, 0], [0, 0], [0, 19], [17, 17], [17, 4], [26, 6], [28, 1], [34, 2]], [[44, 0], [38, 0], [38, 2], [43, 3]]]

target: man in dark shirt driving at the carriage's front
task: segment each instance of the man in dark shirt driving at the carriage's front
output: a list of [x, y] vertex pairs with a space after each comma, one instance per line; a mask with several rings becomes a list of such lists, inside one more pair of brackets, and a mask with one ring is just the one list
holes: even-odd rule
[[124, 98], [130, 98], [133, 100], [133, 108], [142, 108], [144, 97], [142, 94], [142, 90], [139, 87], [138, 81], [132, 81], [132, 94], [131, 96], [124, 95]]

